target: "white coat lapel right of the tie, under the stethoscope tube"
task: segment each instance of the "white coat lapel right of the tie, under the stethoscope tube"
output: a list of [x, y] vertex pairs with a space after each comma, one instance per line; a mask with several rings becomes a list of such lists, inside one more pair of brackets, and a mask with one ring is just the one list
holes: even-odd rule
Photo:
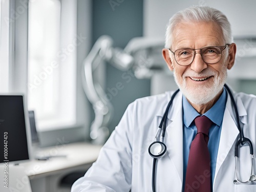
[[[242, 123], [246, 123], [244, 120], [247, 115], [244, 105], [240, 98], [237, 98], [237, 106], [239, 111], [240, 120]], [[224, 112], [223, 122], [222, 122], [222, 130], [221, 130], [221, 138], [219, 144], [219, 151], [217, 156], [217, 164], [216, 164], [216, 172], [215, 172], [215, 181], [216, 177], [218, 177], [219, 170], [226, 159], [228, 153], [230, 155], [234, 155], [234, 149], [231, 150], [231, 147], [236, 142], [237, 137], [239, 135], [239, 131], [237, 128], [237, 121], [234, 116], [233, 106], [230, 100], [230, 96], [228, 95], [226, 109]], [[231, 150], [231, 152], [230, 152]]]

